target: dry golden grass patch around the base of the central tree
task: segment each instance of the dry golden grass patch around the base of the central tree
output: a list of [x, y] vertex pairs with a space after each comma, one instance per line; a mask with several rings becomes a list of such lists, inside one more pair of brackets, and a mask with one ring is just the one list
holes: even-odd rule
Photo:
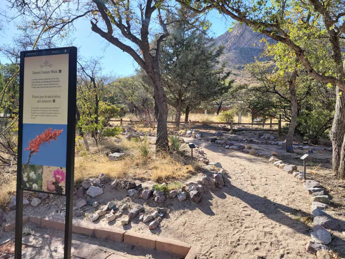
[[[169, 155], [142, 157], [133, 141], [122, 140], [120, 143], [108, 141], [101, 147], [91, 147], [88, 155], [75, 158], [75, 182], [78, 184], [85, 179], [104, 173], [116, 179], [147, 179], [157, 182], [169, 182], [188, 178], [198, 170], [198, 165], [183, 165]], [[128, 155], [121, 160], [110, 161], [105, 150], [121, 149]], [[154, 150], [154, 146], [152, 146]]]

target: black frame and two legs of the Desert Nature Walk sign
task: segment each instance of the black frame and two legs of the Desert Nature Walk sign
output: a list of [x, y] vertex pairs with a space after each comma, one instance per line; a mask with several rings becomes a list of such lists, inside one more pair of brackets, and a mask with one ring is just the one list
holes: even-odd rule
[[[23, 189], [22, 189], [22, 138], [23, 138], [23, 98], [24, 98], [24, 58], [33, 56], [68, 55], [68, 108], [67, 108], [67, 153], [66, 153], [66, 218], [65, 218], [65, 247], [64, 259], [71, 258], [72, 239], [72, 207], [74, 186], [74, 153], [76, 134], [76, 96], [77, 96], [77, 48], [52, 48], [29, 50], [20, 52], [19, 72], [19, 119], [18, 119], [18, 160], [17, 160], [17, 194], [16, 194], [16, 230], [14, 258], [22, 257], [23, 236]], [[35, 191], [43, 192], [44, 191]]]

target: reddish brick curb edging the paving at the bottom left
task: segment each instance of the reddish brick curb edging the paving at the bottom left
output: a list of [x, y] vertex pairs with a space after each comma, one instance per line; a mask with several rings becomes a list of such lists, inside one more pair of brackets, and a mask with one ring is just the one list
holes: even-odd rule
[[[23, 217], [23, 223], [32, 223], [48, 229], [65, 231], [65, 220], [52, 219], [49, 217]], [[16, 222], [12, 221], [3, 225], [5, 231], [14, 230]], [[173, 253], [185, 259], [195, 259], [197, 250], [188, 243], [168, 239], [157, 238], [154, 235], [141, 234], [132, 230], [120, 230], [107, 227], [89, 227], [82, 222], [72, 225], [72, 232], [88, 237], [107, 239], [118, 243], [132, 244], [146, 249], [155, 249], [162, 252]]]

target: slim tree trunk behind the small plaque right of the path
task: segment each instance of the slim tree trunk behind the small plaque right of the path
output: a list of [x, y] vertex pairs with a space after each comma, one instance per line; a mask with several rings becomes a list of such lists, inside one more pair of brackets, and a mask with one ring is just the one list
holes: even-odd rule
[[297, 70], [292, 73], [291, 79], [289, 80], [289, 91], [290, 91], [290, 102], [291, 102], [291, 121], [289, 125], [289, 130], [286, 134], [286, 152], [293, 153], [294, 148], [292, 145], [292, 141], [294, 138], [295, 128], [297, 124], [297, 97], [296, 97], [296, 88], [295, 88], [295, 80], [297, 77]]

